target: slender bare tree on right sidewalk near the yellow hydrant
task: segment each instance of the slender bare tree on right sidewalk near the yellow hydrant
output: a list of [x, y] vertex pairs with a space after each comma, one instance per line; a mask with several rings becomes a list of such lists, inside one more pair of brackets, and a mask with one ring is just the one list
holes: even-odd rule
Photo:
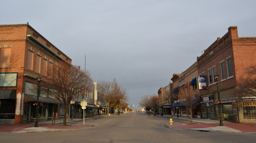
[[195, 109], [197, 105], [199, 104], [199, 96], [193, 95], [193, 86], [187, 82], [182, 86], [179, 90], [178, 99], [182, 104], [187, 106], [190, 114], [190, 121], [192, 124], [192, 109]]

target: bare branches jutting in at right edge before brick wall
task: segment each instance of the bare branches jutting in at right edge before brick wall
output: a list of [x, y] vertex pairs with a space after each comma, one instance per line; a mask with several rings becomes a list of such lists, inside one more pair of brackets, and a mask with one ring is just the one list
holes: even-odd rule
[[256, 66], [246, 69], [246, 77], [241, 79], [238, 88], [233, 92], [236, 97], [256, 96]]

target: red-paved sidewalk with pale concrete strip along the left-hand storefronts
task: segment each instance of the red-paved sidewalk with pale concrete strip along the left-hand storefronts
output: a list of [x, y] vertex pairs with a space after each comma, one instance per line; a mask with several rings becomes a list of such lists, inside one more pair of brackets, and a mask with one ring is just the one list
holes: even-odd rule
[[[88, 117], [86, 119], [106, 117], [107, 115], [100, 115], [94, 117]], [[77, 130], [92, 127], [93, 123], [85, 123], [83, 124], [71, 124], [72, 122], [83, 121], [81, 118], [74, 118], [73, 120], [67, 119], [67, 126], [62, 126], [63, 119], [55, 120], [55, 124], [53, 120], [48, 121], [40, 121], [38, 122], [38, 127], [34, 127], [35, 122], [28, 122], [22, 124], [14, 124], [14, 123], [0, 123], [0, 133], [15, 133], [15, 132], [57, 132], [57, 131], [68, 131], [68, 130]]]

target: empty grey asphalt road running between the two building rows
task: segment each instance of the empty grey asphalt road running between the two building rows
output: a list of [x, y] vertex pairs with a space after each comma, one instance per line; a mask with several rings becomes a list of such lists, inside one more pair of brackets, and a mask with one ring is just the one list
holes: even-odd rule
[[[128, 113], [120, 117], [104, 117], [87, 120], [92, 128], [61, 132], [6, 133], [0, 134], [1, 143], [247, 143], [255, 142], [255, 134], [199, 132], [167, 128], [161, 122], [167, 118], [149, 118], [144, 113]], [[162, 121], [160, 121], [162, 120]], [[82, 124], [83, 122], [76, 122]]]

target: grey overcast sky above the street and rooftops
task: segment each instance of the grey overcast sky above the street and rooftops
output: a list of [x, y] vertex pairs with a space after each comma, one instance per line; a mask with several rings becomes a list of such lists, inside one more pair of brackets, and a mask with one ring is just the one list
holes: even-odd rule
[[131, 105], [157, 94], [238, 26], [256, 37], [255, 0], [1, 0], [0, 24], [29, 24], [94, 82], [126, 88]]

